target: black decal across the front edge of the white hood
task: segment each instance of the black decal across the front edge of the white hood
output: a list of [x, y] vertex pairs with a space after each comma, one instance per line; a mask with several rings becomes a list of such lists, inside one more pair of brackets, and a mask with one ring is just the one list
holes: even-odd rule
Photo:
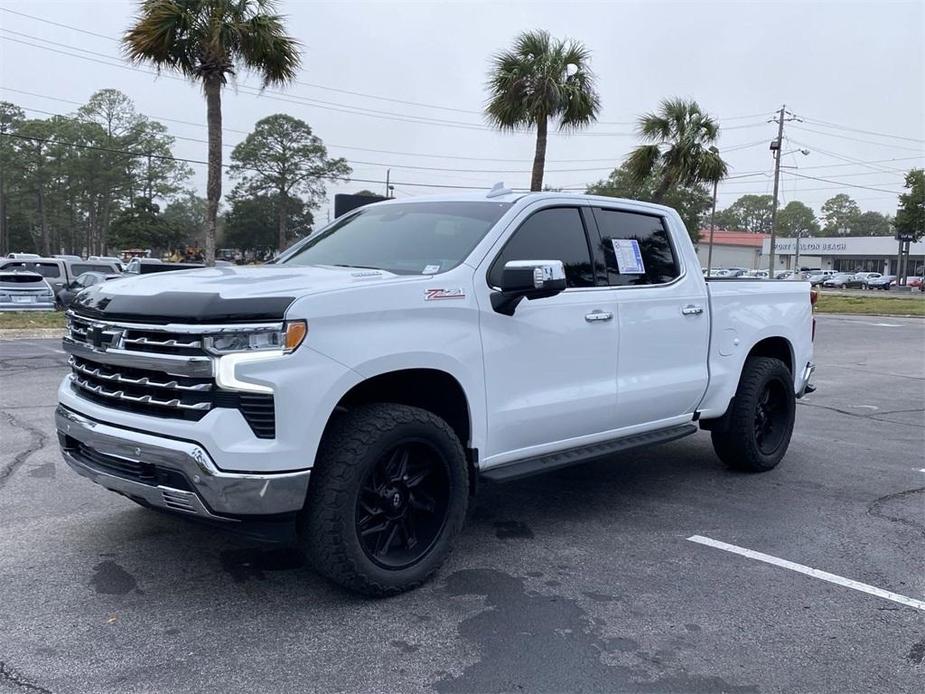
[[203, 292], [161, 292], [150, 296], [107, 295], [103, 285], [82, 291], [71, 309], [87, 318], [146, 323], [253, 323], [279, 321], [292, 296], [223, 299]]

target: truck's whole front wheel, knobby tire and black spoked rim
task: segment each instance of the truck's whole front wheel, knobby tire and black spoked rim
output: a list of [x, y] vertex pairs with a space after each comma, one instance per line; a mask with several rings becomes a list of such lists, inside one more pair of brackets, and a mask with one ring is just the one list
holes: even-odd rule
[[325, 433], [301, 536], [322, 575], [363, 595], [396, 595], [446, 559], [468, 497], [463, 448], [445, 421], [417, 407], [364, 405]]

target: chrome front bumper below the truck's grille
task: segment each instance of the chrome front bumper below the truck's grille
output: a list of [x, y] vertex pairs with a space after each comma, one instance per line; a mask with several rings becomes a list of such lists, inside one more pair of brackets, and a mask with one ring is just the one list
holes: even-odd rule
[[305, 503], [308, 470], [223, 472], [193, 442], [103, 424], [60, 405], [55, 424], [64, 460], [78, 474], [150, 506], [234, 523]]

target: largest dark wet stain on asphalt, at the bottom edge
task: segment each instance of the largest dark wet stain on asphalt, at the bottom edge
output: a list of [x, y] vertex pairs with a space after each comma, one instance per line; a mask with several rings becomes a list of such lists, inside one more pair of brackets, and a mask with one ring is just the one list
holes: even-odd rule
[[447, 577], [450, 595], [485, 598], [482, 612], [459, 624], [481, 659], [458, 677], [433, 684], [438, 692], [754, 692], [719, 677], [681, 674], [651, 681], [641, 668], [607, 665], [601, 654], [630, 650], [631, 639], [600, 637], [574, 600], [528, 593], [523, 578], [493, 569], [464, 569]]

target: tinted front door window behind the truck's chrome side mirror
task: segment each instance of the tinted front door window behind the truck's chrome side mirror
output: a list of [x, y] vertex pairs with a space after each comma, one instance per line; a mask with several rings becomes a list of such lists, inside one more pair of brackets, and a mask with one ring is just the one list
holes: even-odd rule
[[528, 217], [492, 264], [490, 285], [501, 286], [504, 265], [511, 260], [561, 260], [568, 287], [594, 286], [591, 250], [577, 207], [554, 207]]

